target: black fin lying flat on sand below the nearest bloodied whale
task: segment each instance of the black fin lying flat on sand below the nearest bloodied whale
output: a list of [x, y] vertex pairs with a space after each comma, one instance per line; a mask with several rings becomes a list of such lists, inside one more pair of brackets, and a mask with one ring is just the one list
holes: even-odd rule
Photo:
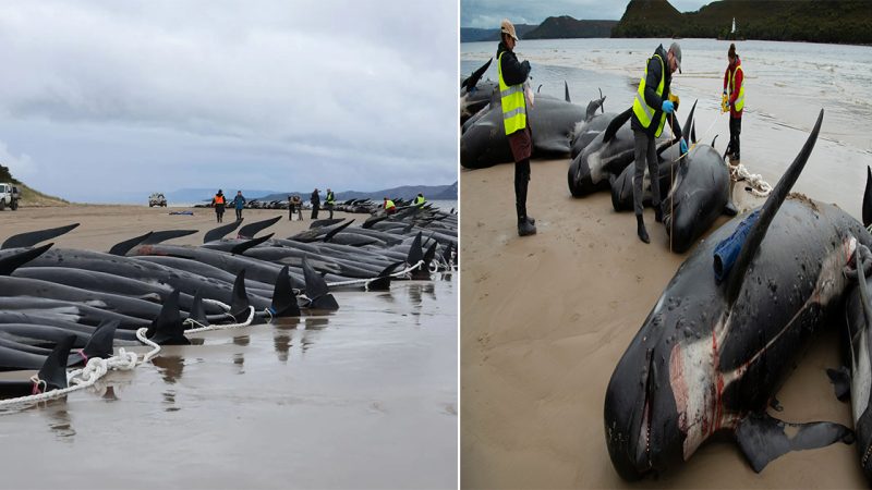
[[839, 441], [851, 444], [853, 439], [853, 431], [841, 424], [790, 424], [765, 413], [749, 414], [736, 427], [739, 448], [756, 473], [790, 451], [824, 448]]

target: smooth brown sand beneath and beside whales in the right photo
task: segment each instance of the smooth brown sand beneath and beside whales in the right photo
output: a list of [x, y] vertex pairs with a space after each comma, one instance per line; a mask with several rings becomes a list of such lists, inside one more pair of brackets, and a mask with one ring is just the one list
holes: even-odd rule
[[[513, 166], [461, 171], [461, 486], [865, 487], [853, 445], [792, 452], [758, 475], [730, 437], [659, 479], [618, 477], [603, 429], [606, 385], [686, 256], [668, 252], [652, 210], [645, 245], [632, 212], [616, 213], [607, 193], [573, 199], [568, 164], [532, 163], [529, 212], [538, 234], [524, 238], [516, 231]], [[741, 204], [754, 203], [738, 192]], [[851, 426], [825, 373], [839, 363], [836, 336], [823, 335], [777, 394], [784, 412], [773, 415]]]

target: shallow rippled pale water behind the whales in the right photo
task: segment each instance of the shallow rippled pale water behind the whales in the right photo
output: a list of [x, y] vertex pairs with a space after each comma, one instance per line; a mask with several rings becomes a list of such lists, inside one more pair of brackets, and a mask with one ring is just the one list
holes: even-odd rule
[[[532, 85], [541, 94], [588, 101], [606, 96], [605, 111], [620, 112], [632, 98], [644, 64], [657, 45], [671, 39], [521, 40], [520, 59], [530, 60]], [[694, 100], [697, 133], [715, 148], [729, 139], [728, 117], [720, 114], [720, 93], [730, 41], [680, 39], [682, 73], [673, 90], [681, 97], [679, 120]], [[460, 45], [461, 76], [469, 76], [496, 54], [496, 42]], [[809, 42], [736, 41], [746, 76], [742, 163], [775, 183], [792, 161], [824, 109], [824, 123], [812, 158], [795, 189], [859, 212], [865, 167], [872, 164], [872, 47]], [[492, 63], [485, 78], [497, 78]], [[564, 184], [566, 185], [566, 184]]]

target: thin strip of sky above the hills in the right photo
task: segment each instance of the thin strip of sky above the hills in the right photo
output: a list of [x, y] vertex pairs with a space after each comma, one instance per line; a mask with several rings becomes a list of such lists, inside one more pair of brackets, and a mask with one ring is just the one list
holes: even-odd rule
[[[714, 0], [669, 0], [679, 12], [693, 12]], [[547, 17], [569, 15], [585, 21], [617, 21], [629, 1], [615, 0], [461, 0], [460, 25], [496, 28], [508, 17], [514, 24], [541, 24]]]

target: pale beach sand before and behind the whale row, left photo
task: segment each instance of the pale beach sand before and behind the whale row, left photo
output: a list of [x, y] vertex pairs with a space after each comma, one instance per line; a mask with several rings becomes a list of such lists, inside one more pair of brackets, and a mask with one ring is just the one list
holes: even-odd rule
[[[199, 244], [216, 225], [210, 209], [167, 212], [22, 208], [0, 213], [0, 238], [81, 222], [55, 242], [107, 250], [150, 230], [196, 229], [170, 243]], [[286, 237], [310, 223], [243, 213], [277, 215], [284, 219], [264, 233]], [[331, 315], [195, 334], [199, 345], [166, 347], [97, 390], [0, 412], [4, 486], [453, 488], [457, 289], [439, 275], [337, 293]]]

